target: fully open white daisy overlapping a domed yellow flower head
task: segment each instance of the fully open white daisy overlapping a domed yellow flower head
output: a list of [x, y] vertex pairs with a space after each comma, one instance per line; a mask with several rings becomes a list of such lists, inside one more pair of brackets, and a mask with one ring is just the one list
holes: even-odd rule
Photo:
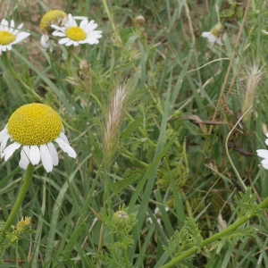
[[51, 25], [55, 31], [52, 33], [54, 37], [60, 37], [60, 45], [65, 46], [80, 46], [80, 44], [94, 45], [98, 44], [99, 38], [102, 38], [102, 30], [95, 30], [97, 24], [95, 21], [83, 20], [80, 22], [80, 27], [77, 26], [74, 17], [71, 14], [68, 15], [68, 21], [63, 27], [57, 25]]

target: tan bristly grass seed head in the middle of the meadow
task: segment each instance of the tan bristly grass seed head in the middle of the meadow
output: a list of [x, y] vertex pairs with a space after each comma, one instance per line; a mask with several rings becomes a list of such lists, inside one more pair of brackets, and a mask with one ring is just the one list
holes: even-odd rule
[[109, 104], [108, 114], [105, 122], [104, 147], [105, 163], [109, 165], [112, 161], [119, 138], [119, 130], [126, 111], [128, 100], [128, 88], [118, 85]]

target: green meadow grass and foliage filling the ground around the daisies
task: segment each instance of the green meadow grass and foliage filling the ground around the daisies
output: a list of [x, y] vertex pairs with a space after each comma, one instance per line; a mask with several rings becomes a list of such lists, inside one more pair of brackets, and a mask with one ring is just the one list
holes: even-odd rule
[[[21, 105], [50, 105], [78, 157], [61, 152], [50, 173], [36, 167], [13, 222], [29, 216], [34, 231], [4, 251], [1, 267], [267, 267], [266, 203], [259, 205], [268, 197], [267, 172], [255, 152], [267, 132], [264, 1], [241, 5], [242, 16], [237, 5], [230, 17], [228, 1], [65, 0], [62, 10], [95, 20], [103, 38], [53, 53], [39, 46], [37, 31], [52, 7], [26, 2], [6, 9], [31, 36], [0, 56], [1, 130]], [[211, 46], [201, 34], [222, 11], [224, 45]], [[80, 60], [89, 66], [81, 70]], [[246, 117], [254, 64], [260, 80]], [[119, 85], [127, 102], [105, 147]], [[0, 160], [2, 221], [21, 188], [19, 161], [19, 150]], [[241, 180], [251, 190], [245, 196]], [[118, 209], [130, 214], [125, 228], [112, 221]], [[218, 231], [219, 214], [226, 233]]]

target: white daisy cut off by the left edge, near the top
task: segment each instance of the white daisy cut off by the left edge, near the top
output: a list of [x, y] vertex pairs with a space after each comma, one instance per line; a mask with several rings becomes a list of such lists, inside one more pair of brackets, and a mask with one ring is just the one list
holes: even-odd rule
[[29, 37], [30, 34], [28, 32], [21, 31], [22, 27], [23, 23], [15, 29], [13, 20], [10, 22], [10, 25], [5, 19], [0, 22], [0, 55], [3, 51], [12, 50], [13, 45]]

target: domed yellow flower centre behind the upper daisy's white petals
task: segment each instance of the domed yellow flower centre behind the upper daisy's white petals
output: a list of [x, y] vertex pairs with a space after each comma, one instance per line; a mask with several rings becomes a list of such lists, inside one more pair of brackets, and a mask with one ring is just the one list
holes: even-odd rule
[[52, 10], [46, 13], [40, 21], [40, 29], [42, 34], [51, 33], [54, 31], [54, 29], [50, 27], [51, 24], [63, 26], [62, 21], [64, 18], [66, 18], [67, 21], [67, 14], [61, 10]]

